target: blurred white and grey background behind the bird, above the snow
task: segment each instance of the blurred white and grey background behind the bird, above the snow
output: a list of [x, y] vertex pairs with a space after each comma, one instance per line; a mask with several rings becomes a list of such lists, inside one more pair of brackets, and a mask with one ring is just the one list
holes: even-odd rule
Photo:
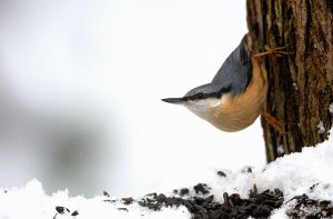
[[209, 82], [244, 0], [0, 0], [0, 187], [149, 192], [265, 163], [259, 121], [224, 133], [160, 101]]

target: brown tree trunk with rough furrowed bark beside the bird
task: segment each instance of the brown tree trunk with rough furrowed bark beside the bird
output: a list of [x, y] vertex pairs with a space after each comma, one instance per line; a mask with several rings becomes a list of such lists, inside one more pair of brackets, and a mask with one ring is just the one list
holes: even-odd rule
[[327, 139], [333, 116], [333, 0], [248, 0], [253, 51], [287, 46], [284, 57], [266, 57], [269, 92], [264, 118], [268, 161]]

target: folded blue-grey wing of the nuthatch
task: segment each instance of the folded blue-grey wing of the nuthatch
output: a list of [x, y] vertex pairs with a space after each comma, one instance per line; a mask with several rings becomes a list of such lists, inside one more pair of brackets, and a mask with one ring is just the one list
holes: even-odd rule
[[239, 47], [226, 58], [212, 80], [221, 90], [229, 88], [232, 97], [244, 92], [252, 78], [251, 53], [246, 43], [246, 34]]

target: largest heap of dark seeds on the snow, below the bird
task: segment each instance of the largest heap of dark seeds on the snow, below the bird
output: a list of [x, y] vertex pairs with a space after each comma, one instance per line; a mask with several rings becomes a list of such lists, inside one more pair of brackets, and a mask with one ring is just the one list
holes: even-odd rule
[[283, 203], [283, 193], [279, 189], [258, 193], [254, 186], [250, 191], [249, 199], [242, 199], [238, 193], [229, 195], [224, 192], [223, 203], [215, 201], [213, 195], [209, 195], [210, 188], [204, 183], [194, 186], [193, 190], [196, 196], [190, 197], [188, 196], [189, 192], [185, 192], [186, 198], [182, 192], [184, 189], [174, 191], [180, 197], [151, 193], [140, 200], [139, 205], [152, 210], [160, 210], [162, 207], [169, 206], [184, 206], [193, 215], [193, 219], [222, 219], [249, 218], [250, 216], [253, 218], [268, 218], [273, 209], [281, 207]]

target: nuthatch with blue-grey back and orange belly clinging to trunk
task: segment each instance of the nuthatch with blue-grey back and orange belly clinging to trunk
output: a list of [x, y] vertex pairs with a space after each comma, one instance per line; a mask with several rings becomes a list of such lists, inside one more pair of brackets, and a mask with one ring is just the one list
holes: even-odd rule
[[185, 106], [223, 131], [240, 131], [252, 125], [266, 98], [268, 73], [261, 54], [251, 54], [250, 41], [245, 34], [212, 82], [190, 90], [182, 98], [162, 100]]

